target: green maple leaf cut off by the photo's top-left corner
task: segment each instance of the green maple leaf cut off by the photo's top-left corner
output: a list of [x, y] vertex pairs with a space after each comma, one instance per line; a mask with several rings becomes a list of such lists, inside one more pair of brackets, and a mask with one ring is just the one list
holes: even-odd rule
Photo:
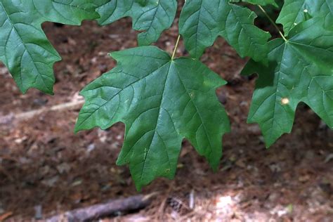
[[23, 93], [30, 88], [53, 93], [53, 64], [60, 56], [41, 30], [41, 23], [80, 25], [81, 20], [98, 18], [93, 0], [84, 2], [0, 1], [0, 60]]

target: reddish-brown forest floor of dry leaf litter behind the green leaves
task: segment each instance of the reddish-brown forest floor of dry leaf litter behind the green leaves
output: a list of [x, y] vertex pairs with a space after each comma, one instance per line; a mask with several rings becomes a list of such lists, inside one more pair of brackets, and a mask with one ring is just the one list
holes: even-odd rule
[[[8, 221], [47, 218], [138, 194], [129, 169], [115, 165], [123, 124], [74, 134], [80, 106], [20, 121], [10, 118], [79, 100], [82, 87], [115, 67], [107, 53], [136, 46], [131, 22], [106, 27], [46, 23], [44, 30], [63, 57], [55, 64], [55, 96], [34, 89], [22, 95], [0, 66], [0, 119], [8, 117], [0, 123], [0, 218], [7, 215]], [[172, 27], [156, 45], [171, 52], [176, 37]], [[181, 43], [178, 55], [184, 53]], [[143, 194], [158, 192], [158, 198], [146, 209], [105, 221], [333, 221], [332, 131], [300, 105], [292, 133], [267, 150], [259, 127], [247, 124], [255, 78], [240, 76], [246, 60], [218, 39], [202, 62], [229, 82], [217, 91], [232, 124], [223, 137], [220, 169], [211, 171], [184, 141], [174, 181], [159, 178], [143, 188]]]

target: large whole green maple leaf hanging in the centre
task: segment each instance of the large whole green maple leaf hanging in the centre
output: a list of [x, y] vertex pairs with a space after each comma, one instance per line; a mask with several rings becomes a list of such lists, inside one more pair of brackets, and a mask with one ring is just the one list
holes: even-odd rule
[[157, 176], [174, 177], [183, 138], [216, 169], [229, 123], [215, 91], [226, 82], [198, 60], [171, 60], [155, 46], [111, 55], [117, 67], [81, 91], [86, 103], [75, 130], [124, 122], [117, 164], [129, 164], [138, 190]]

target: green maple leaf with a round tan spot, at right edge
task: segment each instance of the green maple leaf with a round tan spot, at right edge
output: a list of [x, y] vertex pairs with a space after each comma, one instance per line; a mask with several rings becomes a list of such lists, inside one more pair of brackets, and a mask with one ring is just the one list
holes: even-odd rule
[[250, 61], [244, 74], [259, 74], [249, 123], [261, 126], [266, 145], [292, 131], [296, 106], [306, 103], [333, 127], [333, 32], [324, 18], [302, 22], [289, 39], [270, 41], [269, 66]]

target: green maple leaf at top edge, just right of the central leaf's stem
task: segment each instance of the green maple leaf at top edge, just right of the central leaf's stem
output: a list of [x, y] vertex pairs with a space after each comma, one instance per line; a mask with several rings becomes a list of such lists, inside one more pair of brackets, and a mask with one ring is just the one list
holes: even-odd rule
[[254, 12], [228, 0], [188, 0], [181, 12], [179, 30], [194, 58], [200, 58], [204, 49], [222, 36], [242, 57], [266, 60], [270, 34], [256, 27], [254, 18]]

